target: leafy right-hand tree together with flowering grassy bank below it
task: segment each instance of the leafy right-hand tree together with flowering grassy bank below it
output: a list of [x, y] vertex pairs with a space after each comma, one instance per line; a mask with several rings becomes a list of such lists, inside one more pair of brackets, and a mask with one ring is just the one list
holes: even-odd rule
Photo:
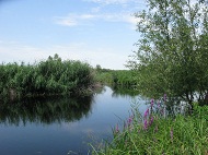
[[[147, 0], [147, 8], [135, 14], [141, 35], [127, 67], [137, 73], [139, 94], [165, 97], [152, 99], [145, 114], [134, 107], [112, 142], [92, 146], [93, 154], [208, 155], [207, 2]], [[170, 105], [175, 99], [178, 107]], [[182, 102], [192, 112], [181, 110]]]

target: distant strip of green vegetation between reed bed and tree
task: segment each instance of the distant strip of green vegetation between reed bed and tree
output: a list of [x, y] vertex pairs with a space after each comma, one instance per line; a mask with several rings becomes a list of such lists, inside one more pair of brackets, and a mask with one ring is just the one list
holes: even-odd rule
[[96, 67], [96, 81], [111, 86], [134, 87], [137, 85], [137, 73], [130, 70], [109, 70]]

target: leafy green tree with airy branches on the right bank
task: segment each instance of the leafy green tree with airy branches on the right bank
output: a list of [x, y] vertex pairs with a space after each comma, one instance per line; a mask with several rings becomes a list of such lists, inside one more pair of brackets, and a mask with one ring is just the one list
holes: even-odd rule
[[148, 97], [166, 93], [193, 105], [208, 93], [208, 8], [205, 1], [147, 0], [136, 13], [141, 39], [128, 67]]

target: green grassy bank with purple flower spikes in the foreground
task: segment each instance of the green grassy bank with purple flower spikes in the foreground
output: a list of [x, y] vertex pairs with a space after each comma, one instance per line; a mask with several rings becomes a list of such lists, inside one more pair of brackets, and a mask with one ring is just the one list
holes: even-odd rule
[[[113, 141], [93, 147], [94, 155], [208, 155], [208, 106], [194, 106], [192, 115], [164, 116], [151, 102], [142, 115], [134, 107], [123, 128], [113, 130]], [[152, 110], [154, 109], [154, 110]]]

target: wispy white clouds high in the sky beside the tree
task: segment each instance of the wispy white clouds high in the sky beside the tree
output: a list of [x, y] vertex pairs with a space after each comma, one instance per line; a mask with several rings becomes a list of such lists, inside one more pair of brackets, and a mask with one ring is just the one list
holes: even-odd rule
[[[90, 9], [89, 13], [70, 13], [65, 16], [56, 16], [55, 23], [63, 26], [94, 25], [95, 22], [123, 22], [130, 24], [130, 28], [136, 26], [138, 19], [135, 19], [135, 12], [145, 9], [145, 0], [83, 0], [99, 3]], [[105, 4], [122, 4], [122, 11], [117, 9], [108, 10]]]

